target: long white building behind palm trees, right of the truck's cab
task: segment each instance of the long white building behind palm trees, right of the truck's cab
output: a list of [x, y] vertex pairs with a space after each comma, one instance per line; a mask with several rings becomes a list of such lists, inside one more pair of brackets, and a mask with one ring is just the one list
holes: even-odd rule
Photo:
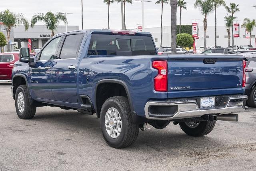
[[[161, 42], [161, 27], [145, 28], [145, 32], [150, 32], [154, 38], [157, 47]], [[230, 29], [231, 32], [231, 29]], [[231, 32], [232, 34], [232, 32]], [[255, 47], [256, 29], [252, 31], [252, 46]], [[213, 47], [215, 44], [215, 26], [208, 26], [206, 32], [207, 46]], [[232, 46], [232, 37], [231, 46]], [[234, 45], [249, 45], [249, 39], [246, 39], [245, 28], [240, 27], [240, 37], [234, 38]], [[199, 26], [199, 39], [196, 40], [196, 48], [204, 46], [204, 26]], [[226, 48], [228, 46], [228, 33], [225, 26], [217, 26], [217, 46]], [[163, 27], [162, 47], [171, 47], [171, 26]]]

